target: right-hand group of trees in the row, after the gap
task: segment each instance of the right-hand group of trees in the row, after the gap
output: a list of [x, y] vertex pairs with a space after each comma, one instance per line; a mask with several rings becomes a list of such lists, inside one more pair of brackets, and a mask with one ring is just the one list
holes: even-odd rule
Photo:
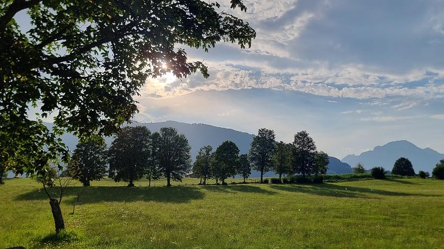
[[203, 179], [220, 180], [235, 175], [247, 178], [251, 170], [261, 173], [261, 183], [266, 172], [273, 171], [279, 178], [285, 174], [321, 175], [327, 172], [328, 155], [316, 150], [315, 141], [306, 131], [294, 135], [292, 143], [276, 142], [273, 130], [260, 129], [251, 142], [249, 154], [238, 155], [239, 149], [232, 141], [223, 142], [216, 151], [211, 146], [200, 148], [193, 165], [193, 173]]

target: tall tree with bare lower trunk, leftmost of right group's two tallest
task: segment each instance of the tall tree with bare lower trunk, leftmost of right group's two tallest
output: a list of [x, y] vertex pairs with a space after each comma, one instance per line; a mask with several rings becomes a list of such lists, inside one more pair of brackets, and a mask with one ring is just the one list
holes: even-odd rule
[[273, 130], [265, 128], [259, 129], [257, 136], [253, 138], [250, 148], [250, 161], [253, 169], [261, 172], [261, 183], [263, 183], [264, 173], [270, 171], [273, 166], [272, 156], [276, 148], [276, 141]]

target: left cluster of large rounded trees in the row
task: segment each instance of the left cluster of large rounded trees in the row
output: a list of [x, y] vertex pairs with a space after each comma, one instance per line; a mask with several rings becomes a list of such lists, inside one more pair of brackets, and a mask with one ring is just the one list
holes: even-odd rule
[[[125, 127], [106, 150], [104, 141], [80, 142], [68, 164], [67, 174], [85, 186], [100, 180], [108, 172], [115, 181], [128, 182], [146, 177], [181, 180], [190, 171], [191, 147], [183, 134], [171, 127], [151, 133], [146, 127]], [[109, 170], [106, 165], [109, 163]]]

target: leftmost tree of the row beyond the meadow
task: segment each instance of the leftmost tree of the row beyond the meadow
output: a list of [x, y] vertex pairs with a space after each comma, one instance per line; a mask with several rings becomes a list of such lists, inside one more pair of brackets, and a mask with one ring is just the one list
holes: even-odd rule
[[102, 179], [108, 163], [106, 153], [103, 140], [79, 142], [68, 163], [68, 175], [82, 182], [84, 186], [89, 186], [90, 181]]

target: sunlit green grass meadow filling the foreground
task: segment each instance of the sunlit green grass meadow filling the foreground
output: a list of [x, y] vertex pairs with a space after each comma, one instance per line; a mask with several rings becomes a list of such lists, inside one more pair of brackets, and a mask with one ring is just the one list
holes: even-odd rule
[[[230, 180], [228, 181], [230, 183]], [[311, 185], [68, 187], [67, 232], [53, 239], [41, 186], [0, 186], [0, 248], [442, 248], [444, 181], [360, 180]], [[100, 184], [100, 186], [99, 186]], [[83, 192], [83, 193], [82, 193]], [[77, 194], [80, 200], [77, 201]], [[71, 214], [73, 203], [76, 212]]]

